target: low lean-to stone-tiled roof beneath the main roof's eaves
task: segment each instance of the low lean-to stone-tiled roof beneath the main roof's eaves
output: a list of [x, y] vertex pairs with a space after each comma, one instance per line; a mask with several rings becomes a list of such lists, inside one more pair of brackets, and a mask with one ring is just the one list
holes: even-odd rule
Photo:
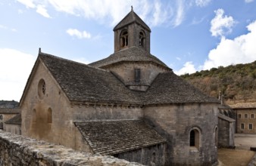
[[84, 121], [75, 124], [93, 152], [102, 155], [114, 155], [166, 142], [144, 121], [139, 120]]

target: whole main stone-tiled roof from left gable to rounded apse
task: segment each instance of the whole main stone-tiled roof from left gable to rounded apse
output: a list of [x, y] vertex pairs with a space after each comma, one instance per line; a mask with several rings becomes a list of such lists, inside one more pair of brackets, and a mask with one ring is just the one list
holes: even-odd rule
[[[202, 94], [173, 72], [160, 73], [146, 92], [130, 91], [116, 76], [104, 69], [39, 53], [39, 60], [49, 69], [70, 101], [162, 104], [220, 103]], [[46, 83], [47, 84], [47, 83]]]

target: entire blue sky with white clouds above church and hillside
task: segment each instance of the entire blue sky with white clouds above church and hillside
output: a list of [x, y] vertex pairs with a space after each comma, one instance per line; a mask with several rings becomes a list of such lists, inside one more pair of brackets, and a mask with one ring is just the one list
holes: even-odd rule
[[113, 54], [131, 6], [177, 75], [256, 60], [256, 0], [0, 0], [0, 100], [20, 100], [39, 48], [86, 64]]

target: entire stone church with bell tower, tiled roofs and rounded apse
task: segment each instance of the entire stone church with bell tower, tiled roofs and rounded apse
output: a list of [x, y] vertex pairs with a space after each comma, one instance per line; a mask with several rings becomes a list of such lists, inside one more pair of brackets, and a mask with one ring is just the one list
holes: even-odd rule
[[103, 60], [39, 50], [20, 99], [22, 134], [147, 165], [217, 164], [219, 100], [151, 55], [150, 34], [132, 9]]

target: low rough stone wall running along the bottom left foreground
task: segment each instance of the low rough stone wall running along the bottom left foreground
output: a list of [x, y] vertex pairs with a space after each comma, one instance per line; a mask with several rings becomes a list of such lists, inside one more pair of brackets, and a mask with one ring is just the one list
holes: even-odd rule
[[92, 155], [0, 130], [0, 165], [142, 165], [112, 156]]

